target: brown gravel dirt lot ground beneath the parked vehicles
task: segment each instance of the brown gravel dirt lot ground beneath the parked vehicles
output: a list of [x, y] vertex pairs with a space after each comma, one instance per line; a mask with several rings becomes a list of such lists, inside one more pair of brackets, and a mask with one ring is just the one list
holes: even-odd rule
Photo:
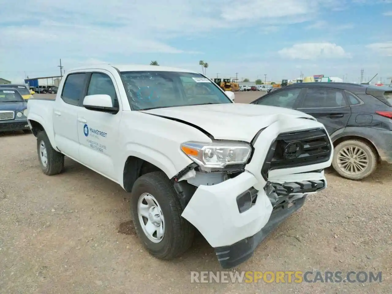
[[362, 182], [328, 171], [328, 188], [238, 267], [382, 271], [382, 283], [193, 284], [190, 271], [220, 270], [203, 238], [178, 260], [152, 258], [127, 223], [129, 193], [119, 185], [69, 159], [62, 174], [45, 176], [32, 134], [0, 136], [0, 150], [0, 293], [391, 292], [391, 166]]

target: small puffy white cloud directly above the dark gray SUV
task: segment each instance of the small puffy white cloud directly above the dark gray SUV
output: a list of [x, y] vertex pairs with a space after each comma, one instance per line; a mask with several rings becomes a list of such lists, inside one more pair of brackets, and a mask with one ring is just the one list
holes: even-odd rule
[[318, 58], [349, 58], [341, 46], [332, 43], [302, 43], [283, 48], [278, 53], [291, 59], [313, 60]]

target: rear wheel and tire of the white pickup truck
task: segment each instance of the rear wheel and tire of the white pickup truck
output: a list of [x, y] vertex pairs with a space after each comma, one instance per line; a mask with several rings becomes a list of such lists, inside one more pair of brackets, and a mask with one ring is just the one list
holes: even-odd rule
[[54, 150], [45, 131], [37, 134], [37, 153], [44, 174], [60, 174], [64, 168], [64, 155]]

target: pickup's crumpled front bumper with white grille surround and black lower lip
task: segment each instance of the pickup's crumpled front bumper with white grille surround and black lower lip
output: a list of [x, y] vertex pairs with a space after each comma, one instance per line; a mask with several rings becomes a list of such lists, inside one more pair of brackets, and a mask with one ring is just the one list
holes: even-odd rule
[[[332, 148], [323, 162], [277, 168], [266, 175], [262, 169], [270, 150], [275, 150], [270, 146], [279, 134], [295, 134], [298, 130], [311, 133], [315, 128], [323, 126], [302, 118], [279, 120], [258, 134], [253, 142], [252, 159], [245, 171], [215, 185], [198, 186], [181, 216], [215, 248], [222, 267], [233, 267], [249, 258], [269, 232], [303, 205], [307, 194], [325, 189], [327, 181], [323, 169], [332, 162]], [[327, 143], [332, 146], [328, 134], [325, 134]], [[318, 146], [317, 142], [311, 144]], [[275, 187], [272, 192], [267, 189], [271, 185]], [[248, 192], [252, 204], [249, 209], [241, 210], [238, 197]], [[287, 206], [289, 203], [292, 203], [291, 207]]]

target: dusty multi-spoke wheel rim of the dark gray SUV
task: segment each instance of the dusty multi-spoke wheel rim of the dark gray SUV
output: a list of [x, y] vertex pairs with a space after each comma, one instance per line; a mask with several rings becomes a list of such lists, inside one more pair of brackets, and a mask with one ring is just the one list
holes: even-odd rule
[[367, 169], [369, 158], [362, 148], [347, 146], [338, 152], [337, 162], [341, 171], [354, 176]]

